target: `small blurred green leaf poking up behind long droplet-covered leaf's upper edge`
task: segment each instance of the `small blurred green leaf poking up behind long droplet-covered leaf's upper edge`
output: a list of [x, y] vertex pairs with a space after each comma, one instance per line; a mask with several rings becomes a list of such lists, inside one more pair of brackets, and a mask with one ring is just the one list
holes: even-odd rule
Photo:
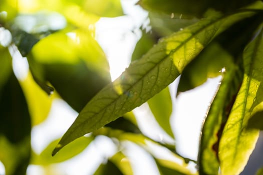
[[158, 36], [155, 32], [142, 30], [142, 36], [136, 43], [132, 53], [132, 61], [137, 60], [143, 56], [152, 46], [157, 42]]

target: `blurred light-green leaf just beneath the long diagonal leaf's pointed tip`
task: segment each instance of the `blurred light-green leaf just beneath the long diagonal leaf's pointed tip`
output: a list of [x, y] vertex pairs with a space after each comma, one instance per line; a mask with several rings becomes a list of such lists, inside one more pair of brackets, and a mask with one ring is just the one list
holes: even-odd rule
[[56, 156], [52, 157], [50, 152], [52, 152], [54, 146], [59, 140], [52, 141], [39, 155], [34, 154], [32, 157], [32, 164], [49, 165], [52, 163], [59, 163], [70, 159], [77, 154], [81, 153], [93, 140], [93, 136], [81, 137], [77, 139], [74, 143], [69, 144], [65, 149], [59, 152]]

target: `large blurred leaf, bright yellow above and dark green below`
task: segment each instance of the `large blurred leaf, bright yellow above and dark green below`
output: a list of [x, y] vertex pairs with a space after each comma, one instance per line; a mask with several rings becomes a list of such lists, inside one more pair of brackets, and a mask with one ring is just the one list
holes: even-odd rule
[[110, 82], [103, 50], [83, 30], [57, 32], [42, 39], [33, 47], [29, 63], [32, 72], [39, 79], [51, 82], [78, 112]]

